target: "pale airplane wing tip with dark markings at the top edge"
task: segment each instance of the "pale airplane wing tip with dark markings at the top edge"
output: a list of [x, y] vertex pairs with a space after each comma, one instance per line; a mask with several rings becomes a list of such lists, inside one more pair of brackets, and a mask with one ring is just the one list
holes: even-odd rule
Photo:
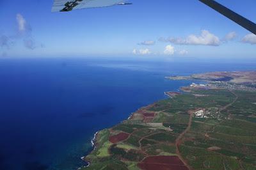
[[52, 12], [69, 12], [83, 8], [100, 8], [126, 4], [125, 0], [54, 0]]

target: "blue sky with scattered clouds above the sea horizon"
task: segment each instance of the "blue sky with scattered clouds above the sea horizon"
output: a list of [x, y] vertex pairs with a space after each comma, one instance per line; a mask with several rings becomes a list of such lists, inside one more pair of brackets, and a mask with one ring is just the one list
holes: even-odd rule
[[[217, 0], [256, 22], [256, 1]], [[0, 58], [256, 58], [256, 36], [198, 0], [51, 12], [53, 0], [0, 0]]]

